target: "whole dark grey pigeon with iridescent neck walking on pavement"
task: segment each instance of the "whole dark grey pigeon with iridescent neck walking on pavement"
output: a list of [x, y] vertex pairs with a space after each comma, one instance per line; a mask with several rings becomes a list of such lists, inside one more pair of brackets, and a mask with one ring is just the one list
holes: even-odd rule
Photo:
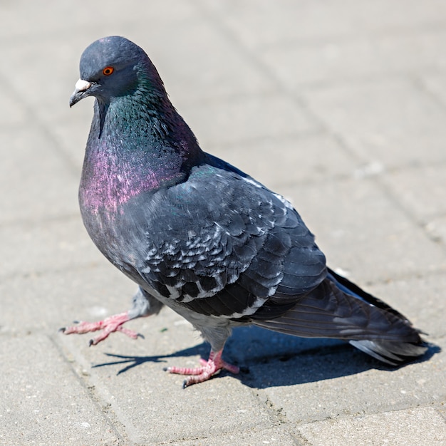
[[81, 56], [70, 106], [95, 98], [79, 187], [83, 223], [96, 247], [138, 284], [129, 311], [61, 328], [100, 331], [168, 306], [211, 351], [184, 387], [221, 370], [232, 328], [254, 325], [308, 338], [337, 338], [388, 365], [427, 350], [420, 331], [380, 299], [326, 265], [296, 209], [246, 173], [207, 152], [177, 113], [145, 51], [108, 36]]

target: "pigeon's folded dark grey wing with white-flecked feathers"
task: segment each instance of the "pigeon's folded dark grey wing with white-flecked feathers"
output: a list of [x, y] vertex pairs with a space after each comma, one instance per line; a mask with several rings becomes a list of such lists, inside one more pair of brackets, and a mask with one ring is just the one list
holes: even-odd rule
[[325, 257], [291, 204], [239, 172], [197, 167], [185, 184], [158, 191], [151, 207], [139, 271], [198, 313], [244, 317], [276, 291], [286, 309], [291, 294], [326, 276]]

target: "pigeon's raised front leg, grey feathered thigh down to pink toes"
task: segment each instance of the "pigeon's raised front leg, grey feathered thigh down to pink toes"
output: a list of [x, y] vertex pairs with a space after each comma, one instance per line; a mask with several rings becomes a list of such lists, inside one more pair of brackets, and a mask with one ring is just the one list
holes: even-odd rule
[[157, 314], [160, 312], [161, 308], [162, 304], [160, 301], [150, 296], [150, 294], [143, 289], [139, 289], [138, 293], [133, 297], [133, 306], [129, 311], [115, 314], [114, 316], [105, 318], [103, 321], [81, 322], [76, 326], [63, 327], [60, 329], [60, 331], [64, 334], [83, 334], [102, 330], [98, 336], [90, 339], [90, 346], [95, 346], [96, 344], [100, 343], [100, 341], [108, 338], [110, 333], [115, 331], [120, 331], [121, 333], [130, 336], [130, 338], [136, 339], [138, 336], [142, 337], [142, 335], [136, 333], [136, 331], [130, 330], [129, 328], [124, 328], [123, 324], [131, 321], [132, 319]]

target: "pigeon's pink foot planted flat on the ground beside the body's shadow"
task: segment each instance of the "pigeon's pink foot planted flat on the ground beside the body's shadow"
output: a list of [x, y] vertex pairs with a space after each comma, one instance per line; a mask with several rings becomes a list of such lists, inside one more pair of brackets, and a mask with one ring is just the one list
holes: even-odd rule
[[223, 369], [228, 370], [231, 373], [239, 373], [240, 368], [237, 367], [237, 365], [232, 365], [222, 360], [222, 353], [223, 349], [217, 352], [211, 350], [209, 359], [207, 361], [204, 361], [204, 359], [199, 360], [199, 362], [202, 364], [202, 367], [166, 367], [164, 370], [169, 373], [190, 375], [185, 379], [183, 388], [187, 388], [188, 385], [202, 383], [212, 376], [217, 375], [217, 373], [220, 373]]

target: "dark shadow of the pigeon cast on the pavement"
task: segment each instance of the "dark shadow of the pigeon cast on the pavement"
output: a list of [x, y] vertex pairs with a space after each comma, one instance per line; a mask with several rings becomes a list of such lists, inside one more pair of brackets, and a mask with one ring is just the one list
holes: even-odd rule
[[[440, 351], [440, 347], [429, 344], [425, 355], [413, 362], [428, 361]], [[207, 359], [209, 345], [203, 342], [165, 356], [105, 355], [115, 360], [93, 365], [93, 368], [123, 365], [117, 373], [120, 375], [143, 363], [166, 363], [168, 358], [201, 356]], [[224, 358], [240, 366], [241, 373], [237, 377], [251, 388], [311, 383], [355, 375], [370, 369], [389, 372], [397, 370], [343, 341], [297, 338], [258, 327], [234, 329], [224, 349]]]

